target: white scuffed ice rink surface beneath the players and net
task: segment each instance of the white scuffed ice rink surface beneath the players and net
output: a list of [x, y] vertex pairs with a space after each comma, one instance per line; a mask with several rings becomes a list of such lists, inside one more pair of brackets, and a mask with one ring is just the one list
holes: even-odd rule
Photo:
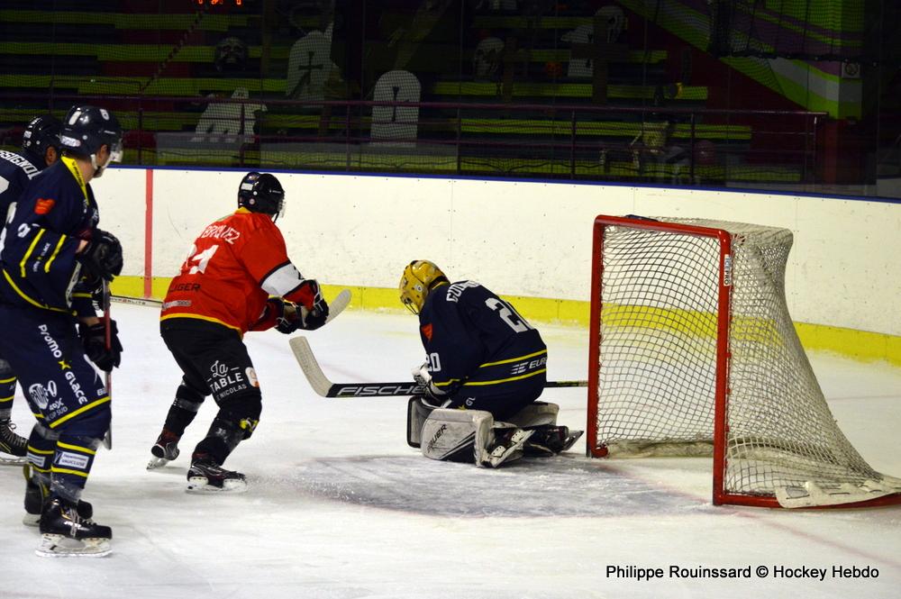
[[[315, 395], [276, 331], [246, 338], [263, 413], [226, 465], [247, 474], [249, 491], [188, 495], [189, 454], [214, 403], [188, 429], [182, 457], [148, 472], [179, 374], [156, 309], [114, 304], [114, 317], [125, 348], [114, 373], [114, 449], [98, 454], [84, 495], [113, 527], [114, 552], [36, 557], [38, 532], [21, 523], [21, 472], [0, 467], [0, 597], [901, 597], [901, 507], [714, 507], [710, 459], [588, 459], [582, 442], [496, 471], [434, 462], [406, 446], [404, 398]], [[336, 382], [405, 380], [423, 358], [416, 326], [412, 315], [347, 311], [308, 339]], [[585, 378], [586, 331], [539, 328], [549, 378]], [[873, 467], [901, 476], [901, 371], [811, 358], [842, 431]], [[578, 429], [585, 397], [544, 395], [560, 404], [560, 423]], [[21, 398], [14, 422], [31, 428]], [[675, 577], [671, 566], [751, 567], [751, 578]], [[663, 577], [617, 577], [609, 567], [662, 568]], [[839, 577], [833, 567], [878, 577]], [[788, 577], [815, 568], [824, 580]]]

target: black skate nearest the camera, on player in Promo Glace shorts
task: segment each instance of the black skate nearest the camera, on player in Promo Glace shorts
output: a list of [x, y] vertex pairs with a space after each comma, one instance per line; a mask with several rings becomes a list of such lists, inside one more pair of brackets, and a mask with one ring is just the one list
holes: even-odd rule
[[113, 531], [78, 514], [76, 504], [54, 497], [41, 512], [41, 558], [103, 558], [110, 554]]

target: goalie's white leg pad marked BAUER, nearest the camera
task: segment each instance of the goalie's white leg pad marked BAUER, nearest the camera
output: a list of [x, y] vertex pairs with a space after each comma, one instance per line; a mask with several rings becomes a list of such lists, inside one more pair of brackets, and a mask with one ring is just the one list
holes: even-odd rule
[[423, 456], [475, 462], [480, 466], [487, 459], [488, 445], [494, 440], [494, 423], [491, 413], [483, 410], [433, 410], [423, 424]]

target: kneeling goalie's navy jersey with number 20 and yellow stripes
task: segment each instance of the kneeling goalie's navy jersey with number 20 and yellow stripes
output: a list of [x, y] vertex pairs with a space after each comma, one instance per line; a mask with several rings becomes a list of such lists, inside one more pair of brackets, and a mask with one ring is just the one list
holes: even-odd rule
[[512, 305], [475, 281], [432, 289], [419, 323], [432, 382], [449, 394], [461, 386], [487, 391], [545, 380], [548, 349], [542, 336]]

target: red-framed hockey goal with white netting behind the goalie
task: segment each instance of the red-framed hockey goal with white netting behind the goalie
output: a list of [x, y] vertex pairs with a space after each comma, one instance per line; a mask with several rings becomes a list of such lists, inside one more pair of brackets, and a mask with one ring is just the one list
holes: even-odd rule
[[598, 216], [588, 452], [714, 457], [714, 504], [901, 503], [836, 425], [788, 314], [792, 233]]

